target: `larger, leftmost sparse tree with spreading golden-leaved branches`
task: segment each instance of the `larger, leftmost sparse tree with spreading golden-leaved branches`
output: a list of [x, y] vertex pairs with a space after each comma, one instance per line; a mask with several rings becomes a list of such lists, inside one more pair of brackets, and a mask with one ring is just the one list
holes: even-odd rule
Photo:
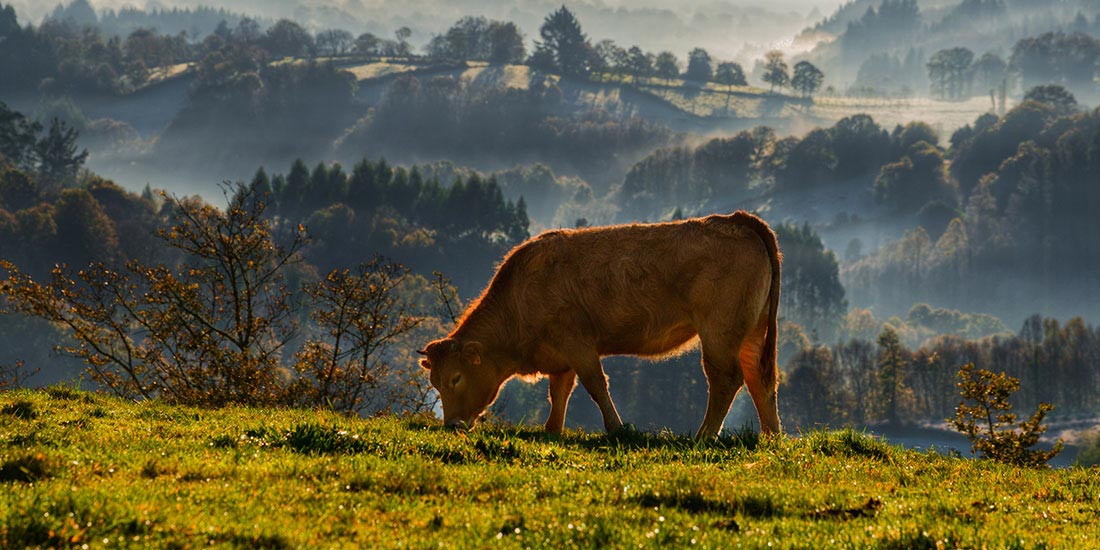
[[175, 221], [157, 237], [182, 253], [176, 266], [55, 266], [42, 284], [0, 262], [7, 308], [67, 329], [76, 343], [63, 351], [118, 395], [280, 402], [280, 354], [297, 329], [284, 271], [299, 260], [305, 234], [277, 245], [264, 202], [244, 186], [223, 190], [226, 210], [165, 196]]

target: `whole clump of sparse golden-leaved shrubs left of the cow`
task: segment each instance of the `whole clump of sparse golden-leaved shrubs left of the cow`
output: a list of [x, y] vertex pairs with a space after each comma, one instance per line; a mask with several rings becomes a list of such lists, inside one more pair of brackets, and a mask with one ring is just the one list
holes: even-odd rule
[[[415, 366], [400, 367], [416, 361], [395, 350], [421, 323], [411, 315], [416, 290], [402, 288], [414, 280], [408, 270], [375, 258], [295, 293], [287, 274], [302, 261], [305, 229], [280, 231], [289, 234], [280, 245], [264, 216], [266, 197], [240, 184], [223, 193], [223, 210], [165, 196], [172, 223], [157, 237], [178, 258], [170, 266], [132, 260], [73, 273], [59, 265], [40, 283], [0, 262], [2, 312], [66, 329], [75, 343], [62, 351], [127, 398], [430, 410], [435, 396], [413, 387], [422, 376], [410, 383]], [[429, 293], [426, 280], [415, 280]], [[301, 319], [312, 324], [302, 330]]]

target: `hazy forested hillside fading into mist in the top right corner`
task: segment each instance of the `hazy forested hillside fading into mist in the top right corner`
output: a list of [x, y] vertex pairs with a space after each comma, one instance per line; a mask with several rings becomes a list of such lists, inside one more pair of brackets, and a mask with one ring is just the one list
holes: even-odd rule
[[1090, 0], [855, 0], [802, 40], [824, 38], [805, 57], [858, 94], [961, 100], [1054, 82], [1092, 100], [1098, 34]]

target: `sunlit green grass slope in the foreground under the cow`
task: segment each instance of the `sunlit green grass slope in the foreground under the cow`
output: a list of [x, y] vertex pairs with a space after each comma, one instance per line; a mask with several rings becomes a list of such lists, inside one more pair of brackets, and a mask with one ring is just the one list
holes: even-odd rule
[[1098, 544], [1096, 469], [853, 431], [717, 441], [0, 394], [0, 547]]

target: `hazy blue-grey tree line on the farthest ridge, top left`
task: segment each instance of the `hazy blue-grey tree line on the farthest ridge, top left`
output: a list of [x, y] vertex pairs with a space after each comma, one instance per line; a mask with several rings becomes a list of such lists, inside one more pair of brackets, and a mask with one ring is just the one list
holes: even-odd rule
[[[0, 82], [0, 90], [125, 94], [180, 63], [246, 72], [285, 57], [316, 59], [352, 53], [408, 57], [414, 50], [407, 28], [398, 29], [394, 38], [371, 33], [356, 37], [342, 30], [310, 33], [285, 19], [263, 25], [246, 16], [222, 18], [201, 36], [189, 30], [164, 34], [148, 26], [119, 36], [105, 32], [86, 3], [78, 0], [37, 26], [21, 26], [14, 8], [0, 6], [0, 40], [6, 45], [0, 52], [0, 72], [12, 75]], [[110, 15], [106, 13], [105, 21]]]

